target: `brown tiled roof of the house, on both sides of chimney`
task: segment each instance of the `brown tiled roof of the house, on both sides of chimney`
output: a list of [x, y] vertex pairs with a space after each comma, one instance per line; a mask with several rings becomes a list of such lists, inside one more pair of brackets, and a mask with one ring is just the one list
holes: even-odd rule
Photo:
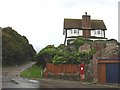
[[[82, 19], [64, 19], [64, 29], [82, 29]], [[107, 30], [103, 20], [91, 20], [91, 29]]]

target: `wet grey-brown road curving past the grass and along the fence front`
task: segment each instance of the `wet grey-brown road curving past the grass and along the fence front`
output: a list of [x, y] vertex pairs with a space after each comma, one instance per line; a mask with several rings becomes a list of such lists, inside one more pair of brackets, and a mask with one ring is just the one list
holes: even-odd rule
[[32, 66], [35, 62], [17, 66], [3, 67], [2, 88], [117, 88], [118, 86], [81, 83], [79, 81], [41, 79], [39, 81], [23, 79], [20, 72]]

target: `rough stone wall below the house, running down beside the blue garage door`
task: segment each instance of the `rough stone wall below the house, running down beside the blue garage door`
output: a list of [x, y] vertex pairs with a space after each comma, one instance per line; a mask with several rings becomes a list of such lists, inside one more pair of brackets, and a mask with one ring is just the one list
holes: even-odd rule
[[88, 65], [86, 65], [85, 80], [98, 82], [98, 59], [99, 58], [110, 58], [110, 57], [120, 57], [120, 45], [116, 40], [107, 41], [93, 41], [91, 43], [85, 43], [79, 47], [80, 52], [88, 52], [90, 49], [94, 48], [96, 54], [93, 55], [93, 59]]

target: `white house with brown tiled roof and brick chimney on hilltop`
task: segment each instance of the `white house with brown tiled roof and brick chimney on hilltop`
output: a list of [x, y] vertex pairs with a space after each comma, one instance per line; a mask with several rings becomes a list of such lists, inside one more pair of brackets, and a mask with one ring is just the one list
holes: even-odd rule
[[90, 15], [82, 15], [82, 19], [64, 19], [63, 35], [64, 44], [70, 44], [77, 37], [84, 37], [90, 40], [106, 40], [107, 30], [103, 20], [91, 19]]

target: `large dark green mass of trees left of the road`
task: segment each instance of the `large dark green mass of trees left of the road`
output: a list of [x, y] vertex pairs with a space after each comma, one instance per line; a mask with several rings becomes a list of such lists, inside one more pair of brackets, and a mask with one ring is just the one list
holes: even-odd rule
[[3, 66], [19, 65], [33, 60], [36, 51], [25, 36], [21, 36], [11, 27], [2, 29]]

